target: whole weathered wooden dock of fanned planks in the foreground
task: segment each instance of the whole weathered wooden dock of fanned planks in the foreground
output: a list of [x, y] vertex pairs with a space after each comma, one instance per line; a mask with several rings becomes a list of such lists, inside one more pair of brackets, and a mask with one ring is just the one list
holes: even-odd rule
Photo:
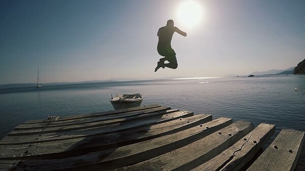
[[0, 141], [0, 170], [302, 170], [304, 132], [170, 107], [32, 120]]

